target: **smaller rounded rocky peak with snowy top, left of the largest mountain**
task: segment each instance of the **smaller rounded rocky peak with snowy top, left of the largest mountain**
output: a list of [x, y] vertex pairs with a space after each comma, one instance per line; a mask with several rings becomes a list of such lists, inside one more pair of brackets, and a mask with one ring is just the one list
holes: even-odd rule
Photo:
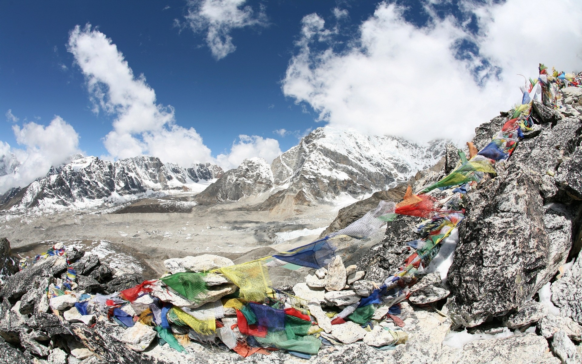
[[226, 171], [216, 182], [196, 196], [200, 204], [237, 201], [273, 187], [271, 167], [263, 158], [248, 158], [238, 168]]

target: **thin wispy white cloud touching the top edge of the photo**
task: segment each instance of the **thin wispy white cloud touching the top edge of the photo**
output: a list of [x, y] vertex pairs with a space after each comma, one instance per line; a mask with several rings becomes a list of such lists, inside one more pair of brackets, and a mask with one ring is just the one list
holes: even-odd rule
[[236, 50], [230, 32], [247, 26], [266, 26], [262, 8], [255, 13], [246, 0], [189, 0], [186, 22], [194, 33], [206, 32], [206, 44], [214, 58], [224, 58]]

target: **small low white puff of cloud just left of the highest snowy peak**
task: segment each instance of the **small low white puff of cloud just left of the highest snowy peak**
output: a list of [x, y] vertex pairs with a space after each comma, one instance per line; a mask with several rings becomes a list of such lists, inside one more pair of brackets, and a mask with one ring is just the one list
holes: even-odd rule
[[235, 140], [232, 143], [230, 153], [228, 155], [219, 154], [217, 162], [226, 171], [238, 167], [243, 160], [251, 157], [265, 158], [270, 164], [281, 153], [279, 142], [275, 139], [257, 135], [239, 135], [238, 142]]

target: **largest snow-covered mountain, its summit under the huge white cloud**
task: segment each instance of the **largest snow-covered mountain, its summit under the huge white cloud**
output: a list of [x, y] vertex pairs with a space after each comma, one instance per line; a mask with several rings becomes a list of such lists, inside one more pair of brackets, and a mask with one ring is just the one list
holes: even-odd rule
[[282, 189], [265, 201], [264, 208], [290, 197], [294, 203], [307, 203], [340, 193], [361, 196], [391, 188], [434, 165], [445, 145], [446, 140], [414, 143], [356, 130], [317, 128], [272, 162], [274, 185]]

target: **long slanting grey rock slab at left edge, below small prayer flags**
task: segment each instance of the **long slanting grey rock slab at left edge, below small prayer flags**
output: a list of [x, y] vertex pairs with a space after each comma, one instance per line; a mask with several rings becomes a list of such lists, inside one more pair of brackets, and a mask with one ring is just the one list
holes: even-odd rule
[[60, 275], [67, 269], [65, 257], [48, 257], [39, 260], [32, 267], [19, 271], [11, 275], [0, 290], [0, 298], [8, 298], [10, 301], [17, 301], [24, 295], [30, 287], [34, 287], [37, 277], [54, 277]]

